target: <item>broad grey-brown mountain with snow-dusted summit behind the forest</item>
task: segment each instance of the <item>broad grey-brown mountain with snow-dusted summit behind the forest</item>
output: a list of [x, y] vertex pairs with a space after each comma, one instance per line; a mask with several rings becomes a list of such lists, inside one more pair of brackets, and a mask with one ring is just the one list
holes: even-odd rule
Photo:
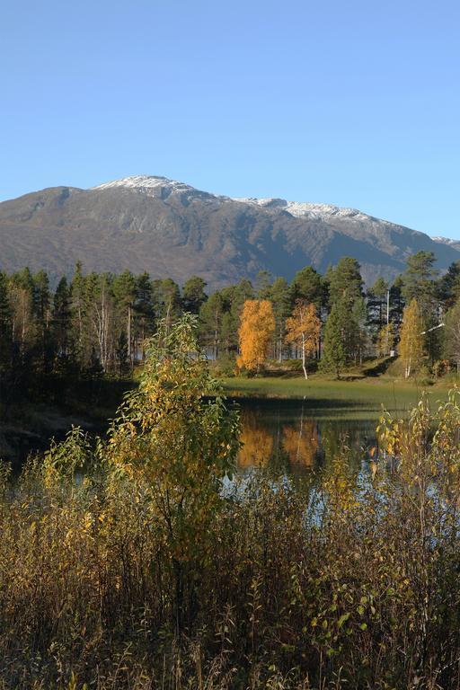
[[44, 268], [56, 279], [85, 270], [147, 270], [182, 283], [193, 274], [217, 288], [259, 270], [292, 279], [341, 256], [367, 283], [394, 278], [407, 257], [435, 252], [438, 267], [460, 259], [460, 243], [354, 208], [285, 199], [231, 199], [164, 177], [137, 175], [90, 190], [55, 187], [0, 203], [0, 268]]

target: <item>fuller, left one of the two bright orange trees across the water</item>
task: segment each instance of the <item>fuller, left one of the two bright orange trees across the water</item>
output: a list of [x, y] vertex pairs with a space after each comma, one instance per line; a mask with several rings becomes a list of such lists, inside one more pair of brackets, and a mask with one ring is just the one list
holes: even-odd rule
[[240, 356], [236, 359], [237, 366], [258, 370], [267, 358], [274, 332], [271, 302], [268, 299], [246, 299], [238, 331]]

